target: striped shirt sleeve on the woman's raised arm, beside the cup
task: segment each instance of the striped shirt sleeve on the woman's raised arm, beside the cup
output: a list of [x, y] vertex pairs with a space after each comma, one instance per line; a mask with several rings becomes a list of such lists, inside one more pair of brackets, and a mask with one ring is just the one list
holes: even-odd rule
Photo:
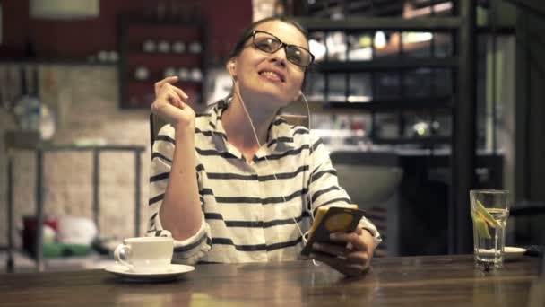
[[[170, 168], [172, 166], [172, 158], [175, 148], [175, 130], [172, 126], [167, 125], [160, 129], [158, 136], [151, 148], [151, 167], [150, 167], [150, 200], [149, 200], [149, 227], [148, 236], [168, 236], [172, 237], [169, 230], [163, 229], [160, 223], [160, 206], [162, 205], [165, 191], [169, 183]], [[196, 171], [196, 170], [195, 170]], [[197, 171], [197, 181], [201, 186], [200, 179], [203, 170]], [[199, 197], [201, 202], [203, 196]], [[203, 204], [201, 204], [203, 205]], [[203, 223], [201, 229], [192, 237], [184, 241], [174, 241], [174, 256], [173, 262], [195, 264], [199, 259], [212, 247], [212, 235], [210, 226], [205, 222], [203, 215]]]

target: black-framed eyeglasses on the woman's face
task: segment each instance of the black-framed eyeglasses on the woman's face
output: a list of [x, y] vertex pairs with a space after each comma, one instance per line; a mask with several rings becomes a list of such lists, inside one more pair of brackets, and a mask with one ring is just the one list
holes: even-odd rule
[[314, 56], [307, 48], [286, 44], [269, 32], [255, 30], [248, 37], [252, 37], [255, 48], [267, 53], [274, 53], [283, 47], [288, 61], [297, 66], [307, 67], [314, 61]]

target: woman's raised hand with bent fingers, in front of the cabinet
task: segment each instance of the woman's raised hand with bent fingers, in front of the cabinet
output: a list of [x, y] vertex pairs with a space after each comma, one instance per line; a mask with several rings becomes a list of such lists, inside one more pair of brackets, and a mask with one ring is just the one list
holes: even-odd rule
[[177, 81], [177, 76], [170, 76], [155, 83], [155, 101], [151, 103], [151, 112], [176, 129], [193, 129], [195, 111], [186, 103], [189, 98], [186, 92], [173, 85]]

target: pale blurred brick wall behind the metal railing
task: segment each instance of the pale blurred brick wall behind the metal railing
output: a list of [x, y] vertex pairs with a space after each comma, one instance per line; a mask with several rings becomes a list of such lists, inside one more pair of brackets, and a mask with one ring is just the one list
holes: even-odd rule
[[[53, 78], [57, 95], [43, 95], [57, 113], [55, 144], [71, 144], [75, 140], [103, 138], [110, 145], [143, 145], [142, 221], [141, 232], [147, 220], [149, 127], [147, 110], [120, 110], [118, 108], [118, 81], [116, 66], [40, 66], [40, 75]], [[43, 85], [42, 85], [43, 90]], [[59, 94], [60, 93], [60, 94]], [[13, 129], [13, 118], [0, 109], [0, 131]], [[35, 210], [35, 155], [18, 151], [14, 161], [14, 206], [16, 223], [22, 216]], [[45, 157], [45, 213], [47, 215], [76, 215], [91, 218], [92, 210], [92, 154], [47, 153]], [[102, 153], [100, 172], [101, 234], [132, 236], [134, 231], [134, 154]], [[4, 245], [6, 229], [6, 155], [4, 142], [0, 144], [0, 245]], [[20, 236], [15, 233], [19, 240]]]

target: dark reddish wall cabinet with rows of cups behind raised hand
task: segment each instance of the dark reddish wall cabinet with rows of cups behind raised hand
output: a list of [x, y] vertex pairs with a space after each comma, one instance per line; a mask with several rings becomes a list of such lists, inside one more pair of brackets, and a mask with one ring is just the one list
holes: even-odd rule
[[154, 83], [177, 75], [192, 105], [204, 101], [206, 31], [201, 20], [120, 15], [121, 108], [149, 108]]

